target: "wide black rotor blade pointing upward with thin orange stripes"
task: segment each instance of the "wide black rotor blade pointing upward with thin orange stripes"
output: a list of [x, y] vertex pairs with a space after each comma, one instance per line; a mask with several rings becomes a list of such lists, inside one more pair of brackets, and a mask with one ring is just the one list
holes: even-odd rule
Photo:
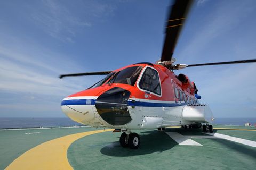
[[166, 24], [165, 40], [162, 50], [161, 61], [169, 61], [177, 44], [182, 25], [193, 0], [176, 0], [170, 7], [170, 15]]

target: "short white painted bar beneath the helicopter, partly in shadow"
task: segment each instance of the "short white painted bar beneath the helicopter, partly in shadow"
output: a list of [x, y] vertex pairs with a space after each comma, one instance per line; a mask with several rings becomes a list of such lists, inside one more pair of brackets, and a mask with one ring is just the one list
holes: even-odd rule
[[180, 133], [177, 132], [165, 132], [169, 135], [175, 142], [179, 143], [179, 145], [190, 145], [190, 146], [202, 146], [200, 143], [197, 143], [196, 141], [189, 139], [186, 136], [183, 136]]

